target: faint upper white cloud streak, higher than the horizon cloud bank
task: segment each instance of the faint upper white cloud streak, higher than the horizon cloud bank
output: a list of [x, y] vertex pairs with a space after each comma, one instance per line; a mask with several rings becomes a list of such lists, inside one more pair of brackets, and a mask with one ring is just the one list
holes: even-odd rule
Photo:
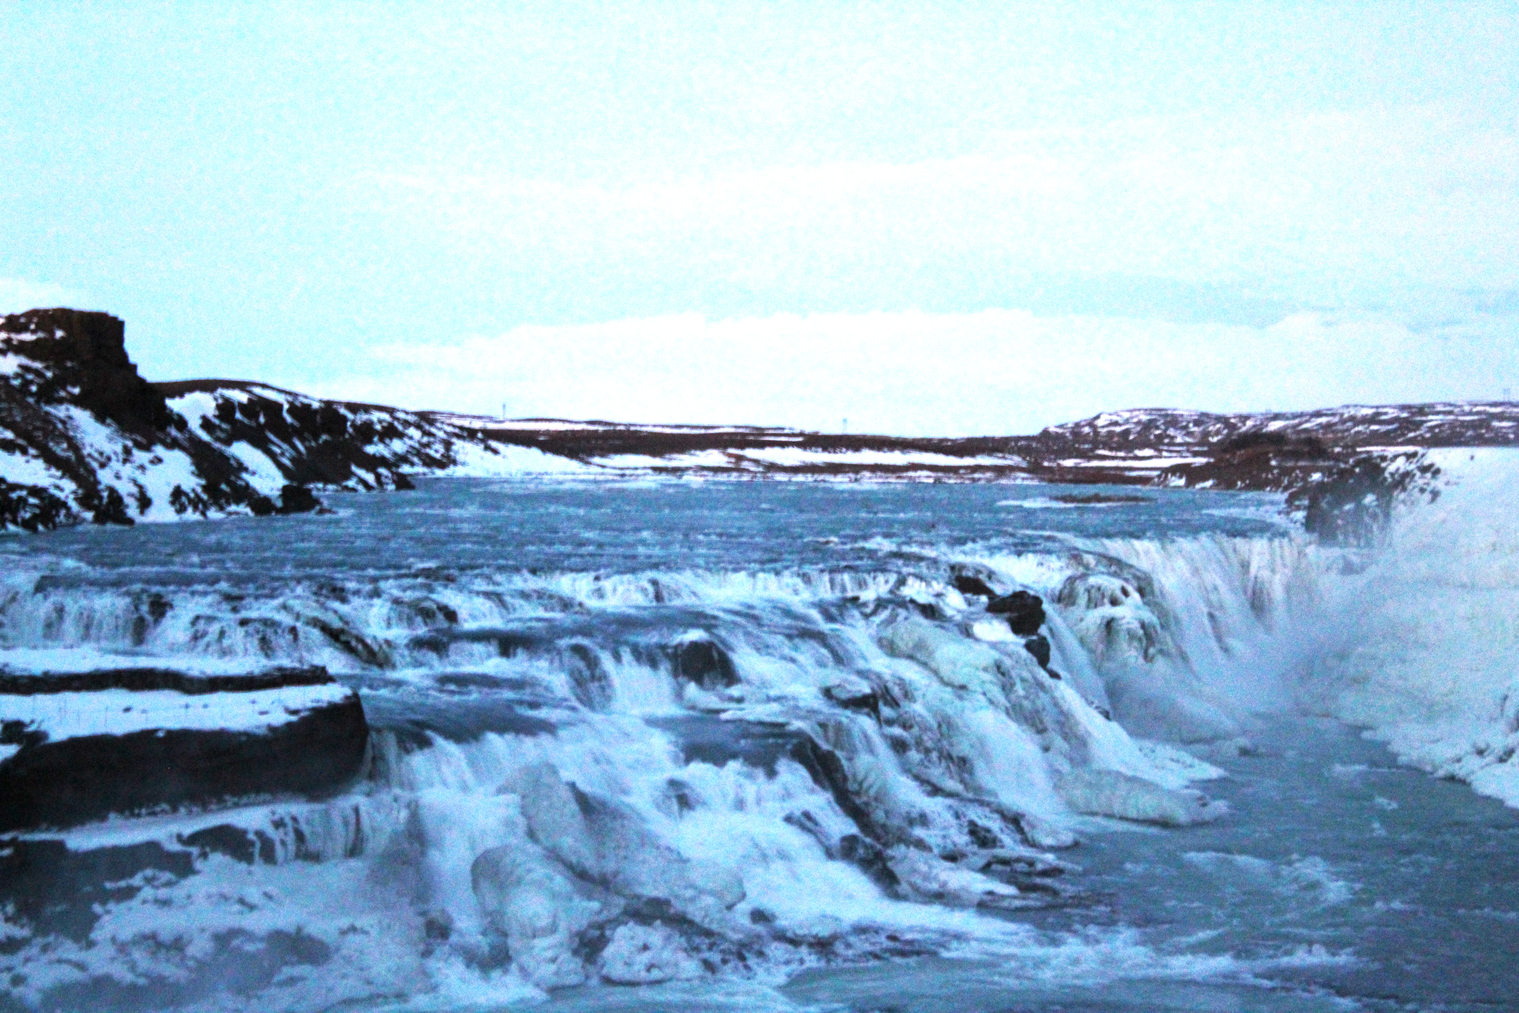
[[1519, 287], [1519, 109], [1443, 106], [992, 135], [910, 164], [828, 163], [598, 185], [372, 178], [384, 210], [472, 257], [677, 260], [735, 284], [925, 272], [1192, 282], [1314, 275]]

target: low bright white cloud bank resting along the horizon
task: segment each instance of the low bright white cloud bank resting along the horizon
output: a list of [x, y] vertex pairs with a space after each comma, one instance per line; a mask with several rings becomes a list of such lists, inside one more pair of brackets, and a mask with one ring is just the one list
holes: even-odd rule
[[[287, 378], [301, 386], [299, 378]], [[1118, 407], [1309, 409], [1498, 398], [1519, 387], [1519, 317], [1416, 330], [1376, 316], [1271, 327], [1024, 311], [696, 314], [377, 349], [322, 393], [512, 416], [1033, 431]]]

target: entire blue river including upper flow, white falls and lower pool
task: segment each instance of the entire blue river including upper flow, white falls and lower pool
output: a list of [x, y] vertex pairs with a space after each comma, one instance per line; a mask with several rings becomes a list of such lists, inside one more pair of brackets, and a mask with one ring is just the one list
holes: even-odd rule
[[0, 925], [0, 1010], [1519, 1007], [1519, 813], [1329, 717], [1379, 571], [1273, 497], [328, 500], [0, 542], [8, 668], [321, 664], [374, 729], [336, 799], [32, 835], [270, 846]]

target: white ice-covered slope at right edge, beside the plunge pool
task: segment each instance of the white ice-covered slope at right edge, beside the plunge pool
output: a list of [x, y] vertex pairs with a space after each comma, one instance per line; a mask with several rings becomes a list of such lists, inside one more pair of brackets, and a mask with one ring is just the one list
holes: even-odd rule
[[1446, 451], [1452, 478], [1358, 582], [1323, 709], [1519, 805], [1519, 454]]

